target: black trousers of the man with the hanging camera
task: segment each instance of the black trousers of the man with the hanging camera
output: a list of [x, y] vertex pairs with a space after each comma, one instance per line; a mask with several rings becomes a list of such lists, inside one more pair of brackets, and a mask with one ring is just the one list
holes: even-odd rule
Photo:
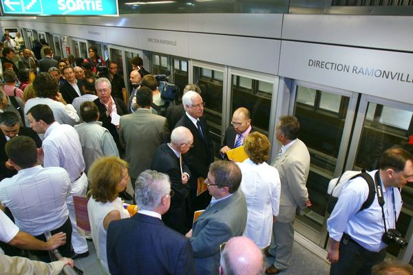
[[371, 252], [344, 234], [340, 241], [339, 261], [330, 267], [330, 275], [367, 275], [373, 265], [383, 262], [386, 248]]

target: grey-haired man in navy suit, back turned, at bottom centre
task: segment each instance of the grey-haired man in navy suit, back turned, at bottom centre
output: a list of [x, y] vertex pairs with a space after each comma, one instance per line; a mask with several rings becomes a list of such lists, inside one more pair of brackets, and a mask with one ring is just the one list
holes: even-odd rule
[[136, 180], [139, 211], [107, 229], [107, 263], [117, 274], [195, 274], [189, 240], [167, 228], [161, 215], [171, 203], [168, 176], [145, 170]]

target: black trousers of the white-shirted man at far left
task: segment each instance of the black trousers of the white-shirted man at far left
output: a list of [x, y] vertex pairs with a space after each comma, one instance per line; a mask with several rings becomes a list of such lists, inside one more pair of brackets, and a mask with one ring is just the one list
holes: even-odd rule
[[[55, 230], [50, 231], [52, 235], [59, 232], [66, 233], [66, 243], [59, 246], [59, 248], [57, 249], [63, 257], [70, 257], [72, 255], [72, 223], [70, 223], [69, 217], [67, 217], [67, 220], [60, 228], [56, 228]], [[35, 238], [41, 241], [46, 241], [44, 234], [35, 236]], [[39, 259], [41, 259], [41, 261], [44, 261], [46, 263], [50, 263], [51, 261], [49, 253], [47, 251], [31, 250], [30, 253], [36, 255]]]

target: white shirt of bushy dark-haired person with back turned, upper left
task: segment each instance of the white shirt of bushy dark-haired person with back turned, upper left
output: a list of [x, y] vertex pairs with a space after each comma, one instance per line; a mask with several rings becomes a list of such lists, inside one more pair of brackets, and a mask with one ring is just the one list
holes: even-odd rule
[[[63, 104], [62, 102], [50, 98], [30, 98], [25, 102], [24, 113], [27, 115], [30, 108], [38, 104], [46, 104], [53, 111], [54, 120], [61, 124], [74, 125], [79, 122], [79, 116], [72, 104]], [[28, 120], [25, 120], [26, 127], [30, 127]]]

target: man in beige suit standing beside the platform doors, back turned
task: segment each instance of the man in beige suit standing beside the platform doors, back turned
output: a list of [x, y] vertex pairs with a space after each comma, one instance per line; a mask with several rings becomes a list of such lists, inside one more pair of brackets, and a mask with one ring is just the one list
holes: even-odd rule
[[293, 252], [295, 213], [311, 206], [306, 188], [310, 171], [310, 153], [306, 144], [297, 138], [297, 118], [292, 115], [279, 118], [275, 133], [277, 140], [282, 143], [273, 163], [281, 179], [281, 197], [279, 214], [273, 225], [273, 242], [268, 250], [275, 257], [275, 261], [266, 269], [266, 274], [279, 274], [288, 267]]

